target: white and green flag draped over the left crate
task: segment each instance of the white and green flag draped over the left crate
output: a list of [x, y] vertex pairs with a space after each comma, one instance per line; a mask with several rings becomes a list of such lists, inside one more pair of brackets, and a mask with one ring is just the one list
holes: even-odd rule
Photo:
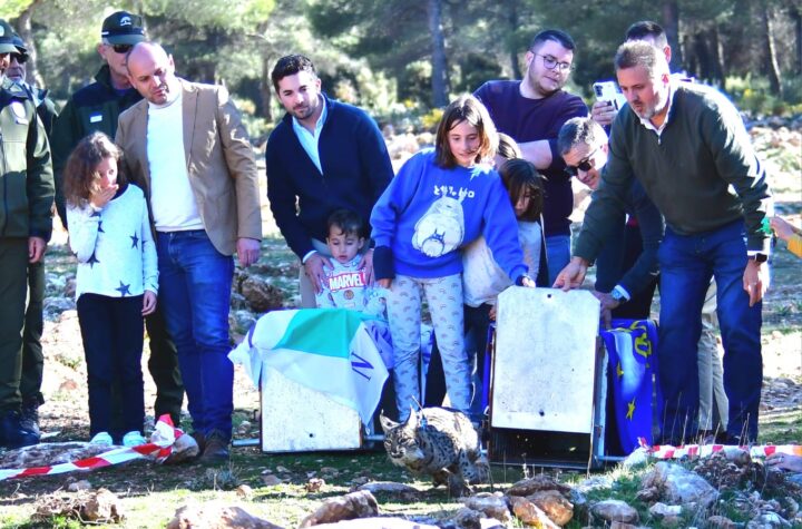
[[300, 308], [263, 315], [228, 357], [258, 386], [263, 369], [353, 408], [369, 424], [388, 370], [368, 329], [375, 317], [345, 308]]

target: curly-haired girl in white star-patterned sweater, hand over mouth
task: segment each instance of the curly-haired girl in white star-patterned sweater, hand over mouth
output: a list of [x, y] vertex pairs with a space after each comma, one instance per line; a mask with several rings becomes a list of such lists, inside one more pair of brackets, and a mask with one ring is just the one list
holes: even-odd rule
[[[145, 442], [143, 317], [156, 310], [158, 271], [145, 195], [117, 173], [120, 156], [108, 136], [87, 136], [67, 160], [63, 185], [70, 248], [78, 257], [89, 431], [105, 442], [134, 445]], [[121, 431], [111, 430], [115, 380], [121, 389]]]

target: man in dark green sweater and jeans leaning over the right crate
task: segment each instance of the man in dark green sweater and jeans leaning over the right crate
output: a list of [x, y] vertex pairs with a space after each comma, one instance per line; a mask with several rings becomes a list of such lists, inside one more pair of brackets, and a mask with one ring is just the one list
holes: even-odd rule
[[757, 438], [763, 382], [761, 300], [769, 287], [773, 207], [763, 165], [737, 109], [713, 88], [674, 82], [661, 50], [643, 41], [615, 57], [628, 105], [613, 123], [602, 185], [585, 214], [575, 256], [555, 286], [579, 286], [637, 176], [666, 219], [661, 266], [662, 442], [693, 440], [698, 429], [696, 344], [711, 276], [718, 287], [728, 443]]

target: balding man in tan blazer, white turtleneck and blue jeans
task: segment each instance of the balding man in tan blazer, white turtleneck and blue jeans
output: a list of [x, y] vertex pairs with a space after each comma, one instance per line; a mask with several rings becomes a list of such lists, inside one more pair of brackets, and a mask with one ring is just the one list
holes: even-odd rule
[[175, 76], [151, 42], [128, 55], [145, 98], [119, 118], [121, 168], [145, 189], [159, 265], [159, 304], [178, 349], [202, 459], [228, 458], [234, 371], [227, 357], [232, 255], [250, 266], [262, 238], [251, 143], [225, 88]]

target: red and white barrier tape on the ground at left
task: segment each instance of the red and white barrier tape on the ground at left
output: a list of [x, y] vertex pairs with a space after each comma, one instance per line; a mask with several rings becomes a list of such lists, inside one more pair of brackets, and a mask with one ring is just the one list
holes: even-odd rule
[[173, 425], [169, 415], [162, 415], [156, 423], [153, 435], [150, 435], [149, 443], [139, 444], [138, 447], [116, 447], [108, 452], [100, 453], [92, 458], [68, 463], [33, 467], [29, 469], [0, 469], [0, 481], [28, 476], [53, 476], [76, 470], [89, 471], [133, 461], [135, 459], [153, 459], [162, 463], [173, 453], [173, 445], [182, 435], [185, 435], [185, 433]]

